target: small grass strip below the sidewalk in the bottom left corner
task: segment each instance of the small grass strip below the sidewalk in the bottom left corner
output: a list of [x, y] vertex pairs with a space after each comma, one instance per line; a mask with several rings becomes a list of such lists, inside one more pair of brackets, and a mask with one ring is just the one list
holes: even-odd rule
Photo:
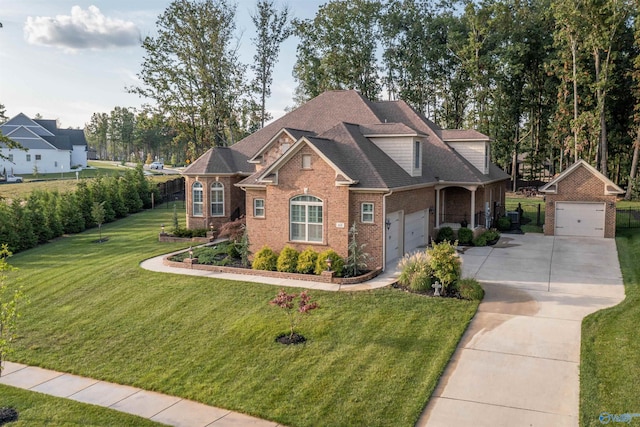
[[18, 411], [18, 421], [11, 423], [11, 427], [164, 425], [111, 409], [5, 385], [0, 385], [0, 407], [12, 407]]

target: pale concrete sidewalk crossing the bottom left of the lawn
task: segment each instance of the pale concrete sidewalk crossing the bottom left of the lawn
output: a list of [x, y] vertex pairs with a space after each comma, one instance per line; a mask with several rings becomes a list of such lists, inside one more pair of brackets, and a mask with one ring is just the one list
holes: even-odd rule
[[179, 427], [275, 427], [253, 418], [202, 403], [119, 384], [6, 362], [0, 384], [103, 406]]

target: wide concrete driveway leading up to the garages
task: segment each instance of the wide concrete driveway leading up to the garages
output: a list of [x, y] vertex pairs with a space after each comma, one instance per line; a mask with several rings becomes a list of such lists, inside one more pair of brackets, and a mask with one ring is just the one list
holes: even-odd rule
[[613, 239], [504, 235], [463, 254], [486, 296], [418, 426], [577, 426], [580, 333], [624, 299]]

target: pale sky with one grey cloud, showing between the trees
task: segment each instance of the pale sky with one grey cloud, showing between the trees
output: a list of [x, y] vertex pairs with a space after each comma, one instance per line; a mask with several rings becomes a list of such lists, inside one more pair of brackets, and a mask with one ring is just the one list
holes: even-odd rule
[[[11, 118], [57, 119], [62, 128], [84, 128], [93, 113], [148, 102], [127, 92], [137, 86], [145, 54], [141, 38], [156, 34], [169, 0], [0, 0], [0, 104]], [[326, 0], [275, 1], [291, 15], [313, 18]], [[255, 0], [238, 0], [240, 60], [252, 62], [251, 14]], [[267, 109], [274, 118], [293, 105], [297, 40], [281, 47]]]

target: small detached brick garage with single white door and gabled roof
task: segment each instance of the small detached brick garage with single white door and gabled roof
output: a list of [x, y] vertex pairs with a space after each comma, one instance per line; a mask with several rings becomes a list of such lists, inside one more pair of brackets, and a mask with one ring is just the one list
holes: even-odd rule
[[624, 191], [584, 160], [540, 191], [546, 200], [545, 235], [615, 237], [616, 197]]

